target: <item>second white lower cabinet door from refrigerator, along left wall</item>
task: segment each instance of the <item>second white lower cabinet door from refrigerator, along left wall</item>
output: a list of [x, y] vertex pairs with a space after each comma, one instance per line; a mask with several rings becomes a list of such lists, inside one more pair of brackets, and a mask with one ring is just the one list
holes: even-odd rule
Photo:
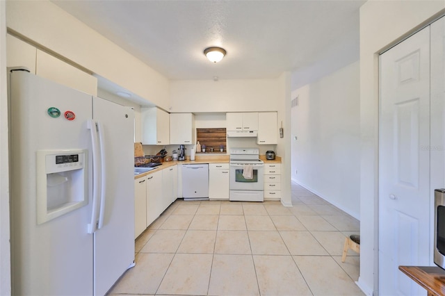
[[164, 211], [162, 205], [162, 171], [147, 175], [147, 224], [152, 224]]

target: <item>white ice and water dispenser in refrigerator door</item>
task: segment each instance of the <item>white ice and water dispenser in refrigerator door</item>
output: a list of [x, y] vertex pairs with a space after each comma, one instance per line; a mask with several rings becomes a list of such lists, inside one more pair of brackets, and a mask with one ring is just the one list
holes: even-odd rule
[[37, 223], [88, 204], [88, 150], [37, 151]]

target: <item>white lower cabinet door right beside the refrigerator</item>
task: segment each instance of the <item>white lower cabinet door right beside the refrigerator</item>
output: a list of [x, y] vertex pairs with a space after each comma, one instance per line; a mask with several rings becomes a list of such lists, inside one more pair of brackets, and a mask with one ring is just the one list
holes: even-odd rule
[[147, 177], [134, 180], [134, 236], [147, 228]]

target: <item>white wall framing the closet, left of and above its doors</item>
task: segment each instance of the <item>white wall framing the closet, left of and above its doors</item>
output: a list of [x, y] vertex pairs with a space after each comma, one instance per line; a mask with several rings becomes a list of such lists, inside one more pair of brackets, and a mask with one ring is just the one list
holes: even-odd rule
[[378, 53], [444, 13], [445, 1], [369, 0], [360, 8], [360, 277], [378, 293]]

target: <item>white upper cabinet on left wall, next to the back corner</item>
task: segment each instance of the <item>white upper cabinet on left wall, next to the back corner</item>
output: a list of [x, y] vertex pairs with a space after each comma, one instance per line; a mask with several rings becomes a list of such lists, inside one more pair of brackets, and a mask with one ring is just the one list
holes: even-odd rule
[[170, 144], [170, 116], [156, 107], [140, 108], [143, 145]]

